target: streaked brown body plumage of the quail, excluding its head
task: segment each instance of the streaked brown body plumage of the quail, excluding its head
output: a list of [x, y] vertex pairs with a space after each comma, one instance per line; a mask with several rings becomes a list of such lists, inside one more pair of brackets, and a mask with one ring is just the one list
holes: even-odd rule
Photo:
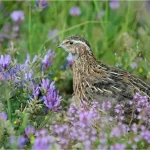
[[81, 100], [126, 103], [136, 92], [150, 97], [150, 86], [130, 73], [81, 56], [73, 65], [75, 95]]

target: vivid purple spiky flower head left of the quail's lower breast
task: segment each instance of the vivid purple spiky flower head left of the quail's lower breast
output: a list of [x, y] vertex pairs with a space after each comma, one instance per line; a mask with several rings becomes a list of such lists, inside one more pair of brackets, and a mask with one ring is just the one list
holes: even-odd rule
[[46, 96], [43, 97], [44, 99], [44, 104], [50, 109], [57, 111], [60, 109], [60, 100], [61, 96], [58, 95], [56, 89], [52, 88], [49, 89], [46, 93]]

